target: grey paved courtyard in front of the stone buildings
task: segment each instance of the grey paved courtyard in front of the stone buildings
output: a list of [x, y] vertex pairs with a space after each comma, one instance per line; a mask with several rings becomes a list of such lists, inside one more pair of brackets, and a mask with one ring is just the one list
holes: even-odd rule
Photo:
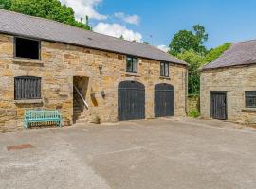
[[172, 118], [1, 133], [0, 188], [255, 189], [256, 129]]

